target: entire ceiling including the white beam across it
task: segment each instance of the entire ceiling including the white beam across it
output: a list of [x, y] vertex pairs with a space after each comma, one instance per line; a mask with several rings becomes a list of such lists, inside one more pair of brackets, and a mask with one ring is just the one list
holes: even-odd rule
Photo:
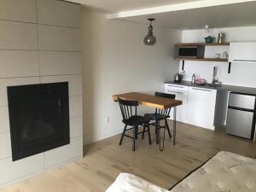
[[255, 0], [69, 0], [108, 13], [108, 18], [131, 20], [172, 29], [256, 26]]

